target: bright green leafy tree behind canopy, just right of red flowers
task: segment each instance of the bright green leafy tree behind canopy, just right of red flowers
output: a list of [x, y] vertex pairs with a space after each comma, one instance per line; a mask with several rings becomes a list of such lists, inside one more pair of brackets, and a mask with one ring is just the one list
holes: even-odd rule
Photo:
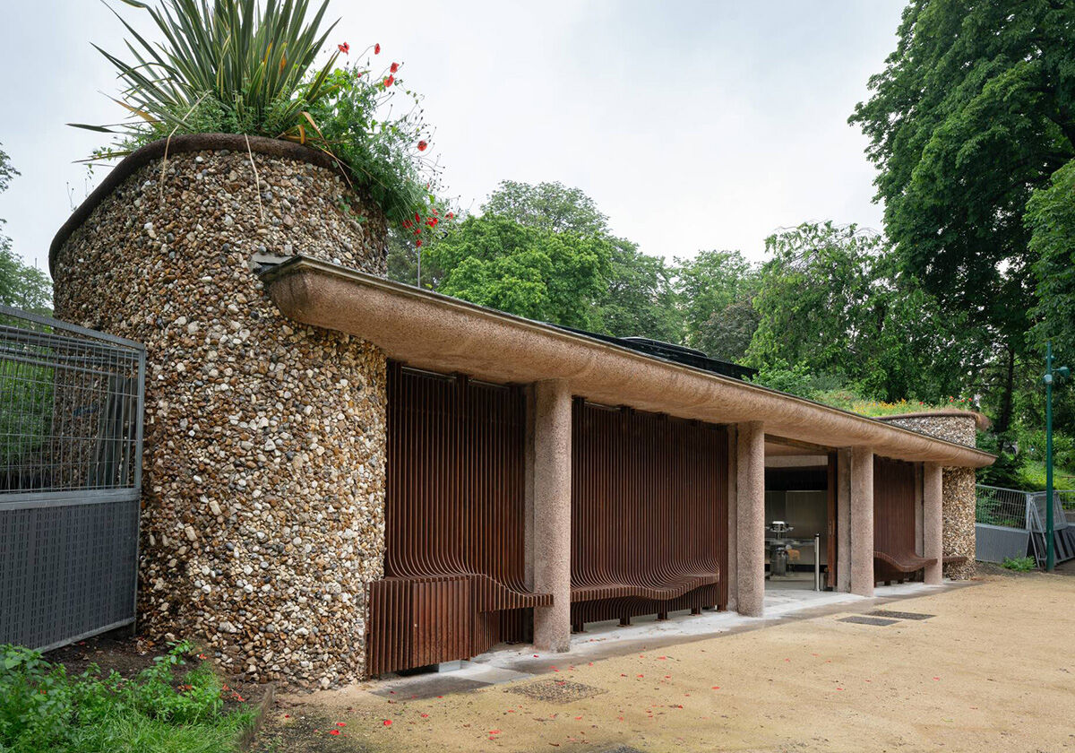
[[612, 244], [496, 215], [468, 217], [422, 258], [444, 270], [438, 290], [528, 318], [592, 328]]

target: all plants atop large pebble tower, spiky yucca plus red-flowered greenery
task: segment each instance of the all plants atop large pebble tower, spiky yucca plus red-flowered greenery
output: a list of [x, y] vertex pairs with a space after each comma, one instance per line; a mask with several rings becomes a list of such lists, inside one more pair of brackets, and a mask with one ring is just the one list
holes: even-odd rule
[[91, 161], [184, 133], [268, 137], [331, 155], [398, 227], [435, 227], [445, 214], [430, 129], [402, 63], [382, 57], [379, 44], [352, 58], [346, 41], [329, 41], [328, 0], [316, 10], [309, 0], [123, 2], [147, 13], [156, 34], [116, 13], [127, 52], [97, 47], [118, 72], [114, 100], [128, 117], [72, 124], [115, 137]]

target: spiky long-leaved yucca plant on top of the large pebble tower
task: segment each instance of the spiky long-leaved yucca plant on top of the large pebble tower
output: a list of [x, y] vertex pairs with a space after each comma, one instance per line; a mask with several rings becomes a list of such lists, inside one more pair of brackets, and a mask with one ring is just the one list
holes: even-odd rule
[[266, 0], [263, 5], [257, 0], [163, 0], [159, 9], [123, 2], [146, 11], [163, 41], [146, 41], [116, 13], [133, 37], [127, 40], [131, 61], [94, 45], [126, 85], [116, 101], [141, 118], [113, 126], [71, 124], [121, 136], [117, 148], [98, 156], [121, 156], [172, 133], [211, 130], [316, 140], [309, 109], [331, 90], [329, 72], [339, 55], [311, 73], [335, 26], [318, 32], [328, 0], [309, 23], [309, 0]]

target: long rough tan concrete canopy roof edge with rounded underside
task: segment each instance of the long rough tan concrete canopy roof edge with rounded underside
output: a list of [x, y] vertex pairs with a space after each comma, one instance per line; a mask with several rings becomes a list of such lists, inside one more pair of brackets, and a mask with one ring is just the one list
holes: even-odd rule
[[431, 371], [501, 383], [565, 380], [610, 406], [731, 424], [829, 447], [869, 447], [902, 460], [981, 468], [989, 453], [737, 379], [644, 355], [558, 327], [302, 256], [264, 269], [288, 317], [355, 336]]

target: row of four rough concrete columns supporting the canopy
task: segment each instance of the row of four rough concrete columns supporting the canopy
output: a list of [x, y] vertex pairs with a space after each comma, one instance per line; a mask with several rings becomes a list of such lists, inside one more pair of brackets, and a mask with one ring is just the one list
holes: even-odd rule
[[[571, 406], [563, 380], [534, 385], [531, 423], [533, 588], [553, 594], [534, 611], [534, 645], [567, 651], [571, 642]], [[729, 606], [760, 616], [765, 595], [765, 431], [761, 422], [737, 424], [730, 464]], [[872, 596], [874, 589], [873, 461], [870, 447], [840, 451], [837, 500], [838, 591]], [[935, 558], [927, 583], [941, 582], [942, 468], [926, 464], [922, 485], [922, 556]]]

